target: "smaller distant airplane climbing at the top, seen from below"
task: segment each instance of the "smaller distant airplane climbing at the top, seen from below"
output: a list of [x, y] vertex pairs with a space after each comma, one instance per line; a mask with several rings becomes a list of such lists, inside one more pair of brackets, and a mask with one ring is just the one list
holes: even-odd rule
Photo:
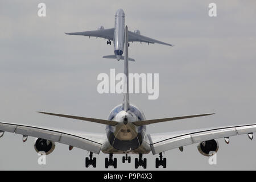
[[[114, 28], [104, 29], [103, 26], [98, 27], [98, 30], [85, 31], [85, 32], [72, 32], [65, 33], [68, 35], [83, 35], [83, 36], [94, 36], [96, 38], [108, 39], [106, 44], [111, 45], [111, 41], [114, 43], [114, 55], [103, 56], [103, 58], [108, 59], [120, 59], [123, 60], [123, 44], [125, 38], [125, 13], [122, 9], [118, 9], [115, 13], [115, 26]], [[141, 35], [141, 31], [135, 30], [134, 32], [129, 31], [129, 42], [145, 42], [148, 44], [163, 44], [167, 46], [174, 46], [172, 44], [164, 43], [159, 40], [151, 39], [146, 36]], [[129, 44], [128, 44], [129, 46]], [[130, 61], [135, 61], [134, 59], [129, 58]]]

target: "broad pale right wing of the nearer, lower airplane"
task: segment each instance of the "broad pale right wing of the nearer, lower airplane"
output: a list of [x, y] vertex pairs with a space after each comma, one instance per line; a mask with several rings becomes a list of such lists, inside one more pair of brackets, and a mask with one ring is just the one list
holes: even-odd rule
[[148, 134], [147, 136], [152, 154], [158, 154], [193, 143], [235, 135], [248, 134], [249, 138], [252, 139], [253, 132], [256, 132], [256, 124]]

